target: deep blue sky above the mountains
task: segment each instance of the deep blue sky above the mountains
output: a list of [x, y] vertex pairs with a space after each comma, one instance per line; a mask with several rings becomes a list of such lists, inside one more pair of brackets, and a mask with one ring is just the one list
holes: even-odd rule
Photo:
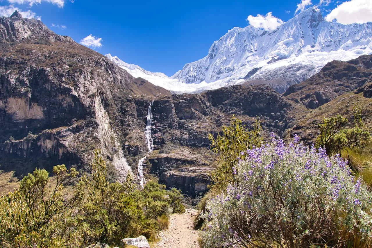
[[[71, 36], [77, 42], [91, 34], [95, 39], [90, 36], [90, 47], [97, 52], [111, 53], [127, 63], [171, 76], [186, 63], [204, 57], [212, 42], [228, 29], [247, 26], [248, 16], [251, 16], [251, 24], [262, 25], [260, 27], [265, 29], [289, 20], [296, 9], [299, 12], [317, 5], [324, 16], [333, 13], [332, 19], [344, 24], [355, 22], [361, 13], [365, 17], [358, 22], [372, 21], [372, 0], [351, 1], [353, 10], [343, 5], [347, 4], [343, 3], [345, 1], [336, 0], [321, 0], [321, 3], [320, 0], [104, 3], [86, 0], [0, 0], [0, 15], [11, 15], [15, 9], [21, 10], [23, 16], [41, 18], [50, 29]], [[272, 13], [267, 15], [269, 12]], [[263, 24], [260, 24], [261, 20]], [[92, 46], [94, 44], [95, 47]]]

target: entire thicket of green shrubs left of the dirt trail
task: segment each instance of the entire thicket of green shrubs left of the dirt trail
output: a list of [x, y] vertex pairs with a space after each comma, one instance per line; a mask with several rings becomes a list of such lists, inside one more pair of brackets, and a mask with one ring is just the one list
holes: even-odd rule
[[0, 198], [1, 247], [115, 246], [139, 235], [153, 240], [171, 212], [185, 211], [180, 191], [167, 191], [157, 182], [148, 182], [143, 190], [135, 190], [130, 174], [122, 184], [108, 182], [98, 150], [92, 174], [78, 180], [70, 199], [62, 191], [76, 170], [58, 165], [53, 172], [49, 182], [47, 171], [35, 169], [22, 179], [19, 190]]

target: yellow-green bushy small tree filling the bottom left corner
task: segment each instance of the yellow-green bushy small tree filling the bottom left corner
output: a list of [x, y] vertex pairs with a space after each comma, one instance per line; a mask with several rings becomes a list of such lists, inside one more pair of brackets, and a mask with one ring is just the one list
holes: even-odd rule
[[[58, 247], [76, 243], [77, 230], [70, 210], [81, 203], [82, 195], [75, 192], [66, 200], [62, 191], [77, 171], [72, 168], [69, 172], [65, 165], [57, 165], [53, 173], [54, 180], [49, 182], [49, 173], [36, 168], [22, 179], [19, 190], [1, 197], [0, 244]], [[61, 232], [66, 235], [57, 235]]]

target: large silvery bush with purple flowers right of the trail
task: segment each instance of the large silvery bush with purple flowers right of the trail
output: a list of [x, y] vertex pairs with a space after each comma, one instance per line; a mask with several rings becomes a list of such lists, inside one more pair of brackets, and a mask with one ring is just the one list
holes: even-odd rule
[[241, 153], [235, 183], [207, 202], [204, 247], [371, 244], [371, 193], [339, 156], [298, 140]]

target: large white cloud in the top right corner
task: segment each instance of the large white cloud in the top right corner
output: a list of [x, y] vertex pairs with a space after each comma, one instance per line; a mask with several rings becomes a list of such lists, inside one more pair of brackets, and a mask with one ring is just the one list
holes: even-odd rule
[[351, 0], [338, 5], [325, 20], [342, 24], [372, 22], [372, 0]]

